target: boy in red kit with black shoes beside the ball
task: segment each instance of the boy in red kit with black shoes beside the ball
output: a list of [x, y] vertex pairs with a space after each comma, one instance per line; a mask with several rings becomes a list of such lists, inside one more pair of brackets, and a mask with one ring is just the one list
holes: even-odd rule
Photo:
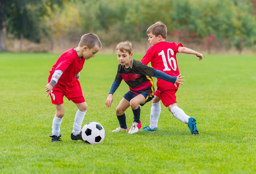
[[84, 34], [78, 44], [65, 51], [50, 70], [48, 84], [46, 85], [47, 97], [51, 96], [52, 104], [55, 105], [56, 113], [52, 121], [51, 142], [62, 141], [60, 138], [60, 125], [64, 117], [63, 96], [72, 100], [78, 107], [75, 115], [72, 140], [83, 140], [81, 126], [87, 110], [87, 103], [84, 99], [80, 83], [78, 81], [84, 61], [94, 57], [101, 49], [100, 39], [96, 34]]

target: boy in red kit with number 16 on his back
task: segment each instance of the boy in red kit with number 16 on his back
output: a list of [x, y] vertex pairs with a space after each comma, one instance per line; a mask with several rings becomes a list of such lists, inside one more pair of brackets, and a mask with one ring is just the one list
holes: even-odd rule
[[[154, 69], [163, 71], [171, 76], [177, 76], [180, 74], [176, 60], [176, 53], [194, 54], [199, 57], [199, 60], [203, 58], [201, 53], [183, 47], [181, 43], [177, 44], [175, 42], [165, 42], [167, 28], [160, 21], [148, 28], [147, 35], [148, 41], [152, 47], [148, 49], [141, 62], [146, 65], [151, 62]], [[157, 130], [158, 118], [161, 112], [161, 100], [164, 106], [168, 107], [169, 111], [174, 117], [183, 123], [188, 124], [191, 134], [198, 134], [196, 119], [186, 115], [184, 111], [177, 106], [175, 93], [178, 90], [179, 84], [177, 84], [177, 87], [175, 87], [172, 83], [163, 81], [162, 79], [157, 79], [156, 86], [157, 90], [155, 92], [155, 97], [152, 100], [150, 125], [142, 128], [142, 131]]]

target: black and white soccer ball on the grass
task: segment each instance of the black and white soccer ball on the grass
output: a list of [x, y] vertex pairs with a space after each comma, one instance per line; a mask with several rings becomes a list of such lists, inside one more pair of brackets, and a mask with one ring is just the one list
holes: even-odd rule
[[100, 123], [87, 123], [82, 129], [82, 138], [86, 143], [98, 144], [105, 138], [105, 129]]

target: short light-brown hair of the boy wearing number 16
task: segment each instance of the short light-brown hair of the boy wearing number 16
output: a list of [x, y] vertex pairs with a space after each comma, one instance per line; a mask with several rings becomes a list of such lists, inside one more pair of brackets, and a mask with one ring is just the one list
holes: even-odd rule
[[161, 21], [158, 21], [148, 28], [147, 34], [150, 33], [154, 34], [155, 36], [161, 35], [162, 38], [165, 39], [167, 35], [167, 27]]

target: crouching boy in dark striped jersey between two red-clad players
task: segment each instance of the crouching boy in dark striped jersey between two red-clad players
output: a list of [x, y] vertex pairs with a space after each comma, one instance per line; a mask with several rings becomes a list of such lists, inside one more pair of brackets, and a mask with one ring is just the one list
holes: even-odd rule
[[[154, 83], [152, 77], [164, 79], [171, 82], [172, 85], [176, 85], [175, 83], [183, 84], [180, 81], [184, 80], [181, 79], [183, 77], [180, 77], [180, 75], [172, 77], [152, 67], [148, 67], [138, 60], [132, 59], [132, 43], [129, 41], [118, 43], [116, 51], [120, 64], [118, 65], [116, 78], [112, 83], [105, 104], [106, 107], [111, 106], [113, 94], [119, 87], [121, 81], [124, 80], [127, 85], [129, 85], [130, 91], [124, 95], [124, 98], [120, 101], [118, 107], [116, 107], [116, 116], [120, 127], [112, 132], [126, 130], [129, 134], [133, 134], [138, 132], [141, 128], [139, 105], [143, 106], [154, 98]], [[134, 121], [130, 130], [126, 125], [126, 116], [124, 113], [128, 107], [132, 108], [134, 115]]]

